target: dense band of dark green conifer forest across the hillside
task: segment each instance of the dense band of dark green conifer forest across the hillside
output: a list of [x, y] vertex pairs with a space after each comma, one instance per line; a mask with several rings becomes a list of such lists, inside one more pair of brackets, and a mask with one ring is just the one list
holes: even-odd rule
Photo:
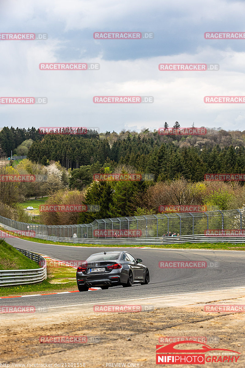
[[[152, 138], [127, 138], [115, 141], [86, 139], [78, 136], [47, 135], [33, 142], [28, 151], [32, 161], [47, 164], [47, 160], [60, 161], [71, 169], [71, 187], [82, 189], [93, 180], [93, 173], [102, 167], [116, 172], [118, 164], [134, 167], [138, 172], [154, 174], [155, 181], [173, 180], [178, 176], [192, 181], [203, 180], [205, 173], [243, 173], [244, 146], [216, 145], [179, 146], [174, 142], [160, 142]], [[84, 183], [83, 183], [84, 182]]]

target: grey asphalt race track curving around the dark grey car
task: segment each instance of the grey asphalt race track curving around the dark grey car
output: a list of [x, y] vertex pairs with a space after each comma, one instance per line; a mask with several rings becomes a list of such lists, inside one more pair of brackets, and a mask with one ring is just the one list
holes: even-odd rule
[[[118, 248], [69, 247], [42, 244], [19, 238], [8, 238], [7, 242], [15, 247], [48, 255], [60, 260], [86, 259], [90, 254], [117, 250]], [[28, 304], [36, 307], [58, 307], [91, 302], [130, 300], [135, 298], [159, 297], [178, 293], [222, 290], [245, 286], [245, 252], [243, 251], [208, 251], [208, 250], [163, 250], [120, 248], [129, 251], [134, 257], [143, 259], [150, 273], [148, 285], [122, 286], [83, 293], [30, 296]], [[161, 269], [159, 261], [206, 261], [203, 269]], [[218, 262], [209, 267], [210, 262]], [[74, 269], [74, 275], [76, 270]], [[15, 298], [1, 299], [1, 305], [13, 305]], [[18, 305], [25, 305], [26, 298], [18, 298]]]

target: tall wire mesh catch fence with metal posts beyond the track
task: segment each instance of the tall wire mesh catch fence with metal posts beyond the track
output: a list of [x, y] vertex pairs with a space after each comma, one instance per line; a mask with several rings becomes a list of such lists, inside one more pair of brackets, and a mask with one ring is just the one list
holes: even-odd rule
[[[31, 232], [36, 236], [58, 238], [113, 239], [155, 238], [171, 233], [180, 236], [204, 234], [211, 229], [245, 229], [245, 214], [240, 210], [209, 211], [195, 213], [161, 213], [159, 215], [116, 217], [94, 220], [89, 224], [43, 225], [18, 222], [0, 216], [4, 229]], [[1, 225], [0, 225], [1, 226]], [[35, 236], [35, 235], [34, 235]]]

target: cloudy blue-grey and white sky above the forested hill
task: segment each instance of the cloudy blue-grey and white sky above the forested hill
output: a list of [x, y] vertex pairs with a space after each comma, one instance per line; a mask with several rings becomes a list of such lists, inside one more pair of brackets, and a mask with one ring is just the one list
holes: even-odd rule
[[[47, 97], [46, 105], [0, 105], [0, 127], [84, 126], [100, 132], [169, 126], [245, 129], [244, 104], [204, 96], [245, 96], [245, 2], [223, 0], [0, 0], [1, 33], [48, 33], [47, 40], [0, 40], [0, 96]], [[93, 33], [154, 32], [154, 39]], [[100, 70], [39, 70], [39, 63], [100, 63]], [[219, 71], [159, 71], [160, 63], [217, 63]], [[150, 104], [95, 104], [93, 96], [154, 96]]]

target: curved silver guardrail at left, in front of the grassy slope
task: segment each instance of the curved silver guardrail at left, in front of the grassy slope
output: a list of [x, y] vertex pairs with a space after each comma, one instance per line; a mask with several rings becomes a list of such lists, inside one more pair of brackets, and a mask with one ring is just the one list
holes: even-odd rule
[[26, 251], [24, 249], [16, 249], [38, 264], [40, 264], [40, 262], [44, 262], [44, 266], [42, 268], [35, 268], [30, 270], [0, 270], [0, 286], [35, 284], [37, 282], [46, 280], [46, 260], [38, 254]]

